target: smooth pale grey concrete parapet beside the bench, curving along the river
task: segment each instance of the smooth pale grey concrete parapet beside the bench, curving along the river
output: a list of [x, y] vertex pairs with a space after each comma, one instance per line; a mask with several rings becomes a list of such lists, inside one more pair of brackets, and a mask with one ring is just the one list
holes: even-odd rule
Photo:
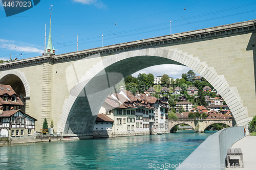
[[244, 127], [220, 130], [210, 135], [176, 169], [225, 169], [227, 149], [244, 136]]

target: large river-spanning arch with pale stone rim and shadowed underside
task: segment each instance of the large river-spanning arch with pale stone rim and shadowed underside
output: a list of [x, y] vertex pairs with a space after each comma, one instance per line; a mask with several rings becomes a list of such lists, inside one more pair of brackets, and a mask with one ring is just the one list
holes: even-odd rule
[[[243, 126], [248, 123], [247, 108], [243, 107], [237, 88], [229, 86], [225, 80], [227, 75], [219, 75], [214, 67], [209, 67], [206, 62], [200, 61], [193, 54], [167, 46], [144, 48], [109, 56], [98, 54], [92, 57], [98, 62], [86, 71], [70, 90], [69, 99], [65, 100], [58, 122], [59, 132], [91, 134], [96, 115], [106, 96], [113, 90], [113, 86], [140, 69], [159, 64], [179, 64], [195, 70], [221, 94], [237, 124]], [[80, 61], [77, 62], [77, 65], [82, 64]], [[75, 74], [76, 68], [72, 67], [72, 69]]]

